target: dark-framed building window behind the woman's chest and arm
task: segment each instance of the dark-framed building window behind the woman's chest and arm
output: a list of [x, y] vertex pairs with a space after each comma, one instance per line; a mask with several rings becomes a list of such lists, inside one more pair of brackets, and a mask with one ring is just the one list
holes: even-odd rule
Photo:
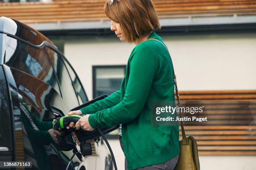
[[125, 75], [125, 65], [93, 66], [93, 98], [100, 95], [111, 95], [120, 89]]

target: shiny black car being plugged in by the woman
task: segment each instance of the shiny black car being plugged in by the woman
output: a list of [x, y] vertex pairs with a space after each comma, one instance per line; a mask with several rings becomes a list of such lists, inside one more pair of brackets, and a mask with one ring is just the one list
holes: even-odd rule
[[[48, 130], [56, 112], [63, 116], [88, 99], [64, 54], [40, 32], [0, 17], [0, 84], [0, 161], [66, 169], [79, 152], [79, 141], [70, 134], [61, 150], [49, 142]], [[95, 170], [96, 164], [98, 170], [111, 169], [112, 159], [100, 139], [92, 138], [92, 155], [77, 154], [69, 169]]]

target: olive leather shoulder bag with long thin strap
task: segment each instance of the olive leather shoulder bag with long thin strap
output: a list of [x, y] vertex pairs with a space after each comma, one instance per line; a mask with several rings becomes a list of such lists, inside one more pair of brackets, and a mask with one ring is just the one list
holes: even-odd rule
[[[148, 38], [147, 40], [156, 40], [156, 39]], [[170, 55], [167, 47], [161, 41], [159, 41], [159, 40], [156, 40], [156, 41], [160, 42], [165, 47], [165, 49], [167, 50], [167, 52], [171, 58], [171, 55]], [[171, 58], [171, 62], [172, 62], [172, 58]], [[172, 65], [172, 68], [173, 68], [173, 65]], [[173, 68], [173, 72], [174, 72], [174, 68]], [[175, 74], [174, 74], [173, 78], [174, 78], [176, 97], [177, 97], [177, 101], [178, 101], [177, 106], [180, 107], [181, 103], [179, 100], [179, 93], [178, 93], [178, 87], [177, 87]], [[179, 112], [179, 116], [182, 117], [181, 112]], [[200, 170], [197, 142], [196, 142], [195, 138], [193, 138], [192, 136], [186, 137], [182, 121], [180, 121], [180, 125], [181, 125], [181, 129], [182, 129], [182, 139], [179, 140], [179, 148], [180, 148], [179, 160], [178, 160], [178, 163], [177, 163], [176, 167], [174, 168], [174, 170]]]

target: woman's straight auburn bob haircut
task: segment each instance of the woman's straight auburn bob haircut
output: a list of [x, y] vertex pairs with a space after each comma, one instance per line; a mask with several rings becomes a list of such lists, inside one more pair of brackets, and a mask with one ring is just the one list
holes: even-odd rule
[[111, 5], [107, 0], [104, 12], [120, 24], [128, 42], [161, 28], [152, 0], [113, 0]]

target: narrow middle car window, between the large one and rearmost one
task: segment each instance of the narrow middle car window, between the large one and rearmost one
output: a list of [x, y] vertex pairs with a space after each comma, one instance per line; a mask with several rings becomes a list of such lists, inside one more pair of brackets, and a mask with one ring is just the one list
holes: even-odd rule
[[49, 57], [54, 66], [54, 70], [56, 71], [56, 75], [59, 79], [62, 97], [71, 110], [72, 108], [77, 107], [79, 105], [79, 102], [76, 92], [74, 91], [72, 81], [70, 80], [69, 73], [64, 65], [61, 55], [48, 47], [46, 47], [46, 50], [49, 54]]

